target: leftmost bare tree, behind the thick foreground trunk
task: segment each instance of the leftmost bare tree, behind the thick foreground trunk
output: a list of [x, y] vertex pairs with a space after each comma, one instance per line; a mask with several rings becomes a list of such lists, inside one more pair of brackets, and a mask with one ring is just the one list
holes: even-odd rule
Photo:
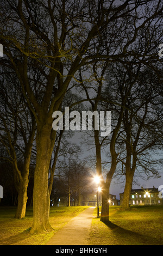
[[1, 157], [12, 164], [14, 185], [18, 193], [15, 218], [23, 218], [26, 214], [28, 199], [27, 187], [36, 130], [35, 118], [24, 101], [14, 74], [9, 72], [2, 74], [0, 86], [0, 138], [7, 151], [7, 156]]

